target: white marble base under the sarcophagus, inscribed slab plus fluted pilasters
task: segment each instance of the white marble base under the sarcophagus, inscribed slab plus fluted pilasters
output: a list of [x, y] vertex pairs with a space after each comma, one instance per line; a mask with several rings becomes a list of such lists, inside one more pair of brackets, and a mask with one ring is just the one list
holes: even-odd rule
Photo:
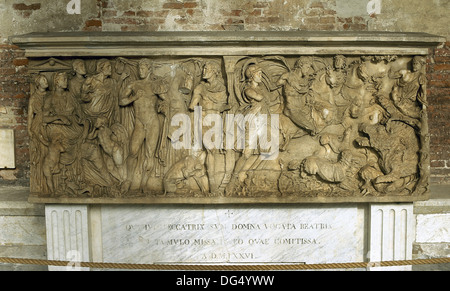
[[405, 260], [412, 205], [47, 205], [48, 254], [75, 267]]

